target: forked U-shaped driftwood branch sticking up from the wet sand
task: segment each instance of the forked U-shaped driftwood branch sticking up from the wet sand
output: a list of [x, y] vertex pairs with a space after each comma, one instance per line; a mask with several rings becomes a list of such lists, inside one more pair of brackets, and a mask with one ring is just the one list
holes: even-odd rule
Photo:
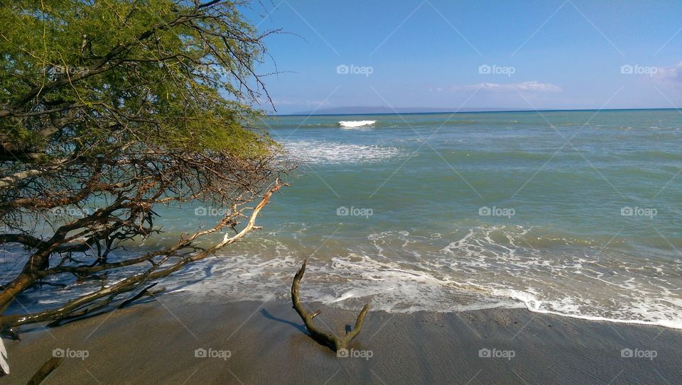
[[367, 315], [367, 311], [369, 311], [369, 303], [367, 303], [358, 314], [354, 328], [347, 331], [344, 336], [337, 337], [337, 335], [333, 333], [326, 333], [323, 330], [318, 329], [313, 323], [313, 318], [319, 316], [322, 311], [318, 310], [312, 314], [308, 313], [308, 311], [305, 310], [303, 303], [301, 303], [301, 296], [298, 291], [298, 286], [301, 284], [303, 273], [305, 273], [305, 264], [307, 262], [308, 260], [303, 261], [303, 266], [298, 270], [296, 276], [293, 277], [293, 284], [291, 284], [291, 301], [293, 302], [293, 308], [296, 309], [296, 313], [303, 319], [305, 328], [308, 329], [308, 333], [310, 333], [310, 337], [312, 337], [313, 340], [330, 347], [335, 352], [340, 349], [346, 349], [348, 343], [360, 333], [364, 316]]

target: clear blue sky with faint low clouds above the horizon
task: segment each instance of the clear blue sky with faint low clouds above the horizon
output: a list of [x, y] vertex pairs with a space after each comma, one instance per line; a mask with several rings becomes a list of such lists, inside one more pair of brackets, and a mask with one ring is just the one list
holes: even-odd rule
[[276, 113], [682, 106], [678, 0], [264, 0], [244, 14], [281, 30], [259, 66]]

